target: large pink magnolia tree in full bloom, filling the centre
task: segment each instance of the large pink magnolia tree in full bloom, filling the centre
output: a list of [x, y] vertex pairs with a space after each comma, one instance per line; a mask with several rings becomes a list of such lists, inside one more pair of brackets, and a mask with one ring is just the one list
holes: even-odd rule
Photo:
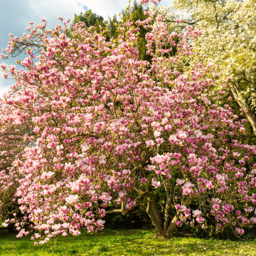
[[[16, 82], [2, 99], [10, 112], [1, 125], [28, 127], [27, 146], [9, 168], [23, 217], [3, 223], [15, 223], [18, 237], [32, 229], [31, 239], [43, 244], [101, 230], [106, 214], [126, 214], [138, 202], [165, 238], [176, 226], [207, 225], [209, 215], [217, 230], [228, 225], [236, 234], [256, 223], [256, 146], [241, 142], [246, 120], [208, 100], [212, 65], [183, 74], [168, 68], [192, 54], [188, 42], [201, 32], [169, 33], [156, 11], [145, 14], [110, 42], [82, 23], [47, 31], [45, 20], [23, 39], [11, 37], [7, 55], [30, 38], [41, 47], [38, 57], [27, 49], [20, 70], [2, 64]], [[153, 23], [151, 61], [139, 61], [139, 26]], [[162, 208], [156, 192], [165, 194]]]

